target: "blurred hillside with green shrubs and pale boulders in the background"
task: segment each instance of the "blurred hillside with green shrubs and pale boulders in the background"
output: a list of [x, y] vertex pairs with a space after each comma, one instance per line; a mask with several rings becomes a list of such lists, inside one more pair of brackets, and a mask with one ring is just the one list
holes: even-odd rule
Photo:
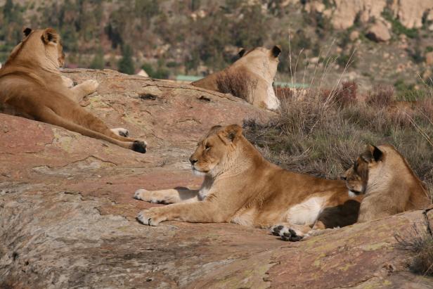
[[0, 0], [0, 63], [23, 27], [58, 29], [67, 68], [174, 79], [220, 70], [240, 47], [280, 44], [280, 81], [319, 73], [332, 86], [344, 72], [361, 90], [399, 91], [432, 77], [433, 0]]

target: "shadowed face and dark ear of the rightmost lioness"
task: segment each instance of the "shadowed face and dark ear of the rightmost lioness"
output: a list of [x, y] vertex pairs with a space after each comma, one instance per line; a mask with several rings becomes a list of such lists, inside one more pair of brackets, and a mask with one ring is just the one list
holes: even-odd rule
[[344, 179], [349, 194], [365, 194], [367, 190], [369, 173], [382, 162], [383, 152], [379, 148], [368, 145], [366, 151], [355, 160], [354, 165], [347, 169]]

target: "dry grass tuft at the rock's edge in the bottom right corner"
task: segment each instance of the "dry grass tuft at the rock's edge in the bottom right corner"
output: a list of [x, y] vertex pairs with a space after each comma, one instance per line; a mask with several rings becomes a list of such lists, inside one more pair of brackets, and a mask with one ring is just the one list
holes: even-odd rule
[[425, 221], [425, 229], [415, 224], [407, 237], [396, 234], [396, 248], [413, 253], [409, 268], [416, 274], [433, 276], [433, 235], [429, 222]]

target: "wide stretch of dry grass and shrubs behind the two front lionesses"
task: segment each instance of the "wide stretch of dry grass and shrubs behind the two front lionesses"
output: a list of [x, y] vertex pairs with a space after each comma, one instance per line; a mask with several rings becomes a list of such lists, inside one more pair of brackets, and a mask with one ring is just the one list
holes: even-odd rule
[[333, 90], [309, 89], [301, 97], [288, 89], [276, 93], [282, 105], [274, 120], [244, 124], [247, 139], [271, 162], [337, 179], [367, 143], [392, 143], [433, 192], [432, 90], [406, 106], [394, 101], [387, 86], [359, 97], [353, 82]]

